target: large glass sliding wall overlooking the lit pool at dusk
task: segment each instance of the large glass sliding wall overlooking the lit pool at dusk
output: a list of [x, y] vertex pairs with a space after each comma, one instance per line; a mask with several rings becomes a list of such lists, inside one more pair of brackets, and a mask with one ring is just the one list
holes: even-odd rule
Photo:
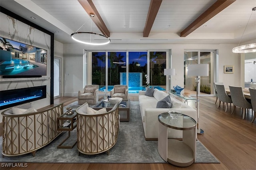
[[167, 51], [88, 52], [88, 82], [99, 85], [100, 91], [110, 91], [114, 85], [126, 85], [128, 82], [129, 93], [137, 93], [145, 90], [147, 74], [150, 86], [165, 90], [166, 53]]

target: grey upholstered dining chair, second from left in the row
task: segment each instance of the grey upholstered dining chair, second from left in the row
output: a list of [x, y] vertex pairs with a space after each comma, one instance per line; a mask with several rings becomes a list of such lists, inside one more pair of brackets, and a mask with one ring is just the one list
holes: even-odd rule
[[231, 109], [231, 103], [233, 103], [232, 99], [231, 99], [230, 96], [227, 95], [225, 87], [224, 87], [223, 84], [217, 84], [216, 83], [215, 86], [216, 86], [216, 91], [218, 93], [218, 98], [219, 98], [218, 108], [220, 108], [220, 102], [226, 103], [226, 112], [227, 112], [228, 103], [230, 103], [230, 109]]

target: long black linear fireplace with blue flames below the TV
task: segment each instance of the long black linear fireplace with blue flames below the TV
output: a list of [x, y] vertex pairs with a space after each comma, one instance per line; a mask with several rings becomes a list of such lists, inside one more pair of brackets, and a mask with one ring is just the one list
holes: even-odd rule
[[0, 110], [46, 98], [46, 85], [0, 91]]

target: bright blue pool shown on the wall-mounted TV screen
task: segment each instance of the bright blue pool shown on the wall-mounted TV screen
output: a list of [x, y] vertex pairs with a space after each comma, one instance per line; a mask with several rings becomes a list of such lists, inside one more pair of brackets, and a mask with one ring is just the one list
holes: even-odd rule
[[38, 67], [24, 59], [12, 59], [0, 64], [0, 75], [15, 75]]

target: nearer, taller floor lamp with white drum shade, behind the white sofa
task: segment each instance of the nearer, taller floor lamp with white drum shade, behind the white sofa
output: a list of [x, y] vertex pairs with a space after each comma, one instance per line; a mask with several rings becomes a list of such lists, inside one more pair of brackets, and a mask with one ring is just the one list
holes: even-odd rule
[[[208, 76], [209, 66], [208, 64], [191, 64], [188, 65], [188, 76], [196, 76], [196, 117], [197, 117], [197, 134], [203, 134], [204, 130], [199, 128], [199, 100], [198, 100], [198, 87], [199, 79], [198, 76]], [[199, 90], [198, 90], [199, 89]]]

